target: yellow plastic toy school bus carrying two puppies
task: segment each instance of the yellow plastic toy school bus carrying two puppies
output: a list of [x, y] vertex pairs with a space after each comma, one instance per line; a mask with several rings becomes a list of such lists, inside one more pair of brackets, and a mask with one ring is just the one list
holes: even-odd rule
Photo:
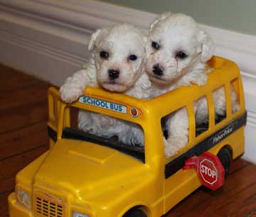
[[[198, 162], [198, 173], [188, 167], [207, 152], [218, 156], [226, 174], [231, 159], [244, 152], [246, 112], [235, 63], [213, 57], [209, 65], [215, 70], [208, 74], [205, 87], [181, 87], [151, 100], [87, 88], [79, 101], [65, 104], [58, 91], [50, 88], [50, 150], [17, 174], [16, 191], [9, 196], [10, 216], [159, 217], [201, 182], [215, 185], [220, 174], [209, 159]], [[231, 86], [240, 104], [234, 113]], [[213, 103], [213, 91], [218, 88], [225, 89], [226, 110], [221, 117], [215, 116]], [[207, 100], [208, 120], [198, 126], [193, 103], [201, 97]], [[184, 106], [188, 144], [166, 158], [164, 117]], [[144, 130], [144, 147], [79, 131], [72, 126], [74, 108], [138, 124]]]

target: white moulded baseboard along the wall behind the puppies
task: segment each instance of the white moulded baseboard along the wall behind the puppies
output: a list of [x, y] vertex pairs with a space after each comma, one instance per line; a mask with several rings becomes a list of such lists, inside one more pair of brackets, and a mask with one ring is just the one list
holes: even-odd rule
[[[147, 30], [154, 13], [92, 0], [0, 0], [0, 62], [55, 85], [90, 57], [90, 34], [112, 23]], [[245, 158], [256, 162], [256, 36], [203, 26], [216, 55], [238, 63], [248, 111]]]

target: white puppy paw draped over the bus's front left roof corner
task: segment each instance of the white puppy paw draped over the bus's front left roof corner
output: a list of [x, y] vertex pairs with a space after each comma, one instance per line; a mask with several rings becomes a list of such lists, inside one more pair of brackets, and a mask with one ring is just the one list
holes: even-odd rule
[[60, 87], [60, 98], [66, 103], [72, 103], [82, 96], [83, 89], [79, 87], [72, 86], [70, 84], [63, 84]]

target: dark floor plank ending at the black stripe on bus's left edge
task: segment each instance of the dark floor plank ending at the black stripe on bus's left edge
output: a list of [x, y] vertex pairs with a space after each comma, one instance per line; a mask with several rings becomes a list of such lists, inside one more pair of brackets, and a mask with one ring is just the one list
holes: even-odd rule
[[48, 143], [45, 121], [0, 135], [0, 160]]

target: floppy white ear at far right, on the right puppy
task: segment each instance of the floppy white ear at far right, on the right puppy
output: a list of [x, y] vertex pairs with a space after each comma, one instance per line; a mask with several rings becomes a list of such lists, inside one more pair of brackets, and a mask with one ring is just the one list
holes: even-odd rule
[[206, 62], [213, 56], [214, 45], [210, 35], [204, 30], [200, 30], [198, 33], [198, 41], [201, 44], [201, 61]]

